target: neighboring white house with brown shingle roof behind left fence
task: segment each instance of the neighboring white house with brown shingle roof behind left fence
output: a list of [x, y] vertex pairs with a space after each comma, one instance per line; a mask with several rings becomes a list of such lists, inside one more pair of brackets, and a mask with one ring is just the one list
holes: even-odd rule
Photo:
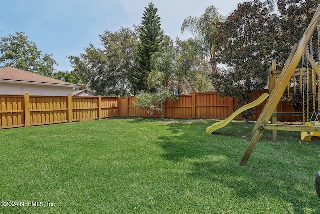
[[0, 94], [67, 96], [79, 87], [14, 67], [0, 68]]

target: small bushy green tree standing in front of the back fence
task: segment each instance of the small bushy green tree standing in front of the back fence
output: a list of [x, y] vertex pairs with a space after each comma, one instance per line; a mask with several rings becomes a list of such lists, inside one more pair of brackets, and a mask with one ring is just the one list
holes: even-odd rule
[[173, 99], [176, 102], [179, 97], [174, 96], [166, 90], [161, 90], [158, 93], [149, 93], [145, 91], [139, 92], [135, 97], [133, 104], [140, 108], [148, 108], [147, 113], [153, 114], [154, 111], [159, 111], [161, 113], [161, 119], [163, 120], [164, 103]]

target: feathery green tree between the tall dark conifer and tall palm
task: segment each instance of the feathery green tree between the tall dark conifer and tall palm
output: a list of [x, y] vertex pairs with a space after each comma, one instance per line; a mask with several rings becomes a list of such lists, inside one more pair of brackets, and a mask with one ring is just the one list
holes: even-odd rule
[[[149, 89], [162, 86], [167, 91], [178, 90], [178, 93], [190, 93], [201, 91], [204, 84], [204, 76], [210, 81], [207, 73], [200, 72], [199, 58], [188, 53], [187, 41], [176, 38], [175, 43], [166, 45], [163, 50], [151, 56], [151, 72], [148, 75]], [[206, 64], [207, 65], [207, 64]], [[195, 84], [195, 87], [193, 86]]]

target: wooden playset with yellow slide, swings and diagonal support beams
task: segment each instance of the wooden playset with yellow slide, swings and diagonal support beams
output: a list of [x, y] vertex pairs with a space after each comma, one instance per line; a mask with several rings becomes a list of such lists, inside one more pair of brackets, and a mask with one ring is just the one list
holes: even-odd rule
[[[246, 165], [248, 159], [250, 158], [257, 142], [259, 141], [260, 137], [264, 130], [272, 130], [273, 140], [276, 140], [276, 131], [298, 131], [301, 132], [301, 139], [302, 140], [311, 140], [311, 135], [313, 136], [320, 136], [320, 126], [318, 126], [318, 122], [320, 119], [320, 104], [318, 107], [315, 106], [316, 100], [316, 85], [317, 79], [319, 78], [319, 66], [316, 61], [313, 59], [313, 46], [310, 45], [312, 48], [307, 48], [309, 41], [312, 43], [312, 35], [316, 29], [318, 29], [318, 35], [320, 35], [320, 29], [318, 28], [318, 23], [320, 22], [320, 5], [309, 24], [307, 29], [305, 30], [302, 38], [300, 39], [298, 44], [295, 44], [292, 48], [292, 51], [282, 69], [281, 72], [276, 70], [276, 62], [272, 62], [272, 68], [270, 72], [270, 76], [268, 78], [268, 90], [269, 90], [269, 98], [262, 109], [262, 112], [257, 119], [248, 141], [250, 144], [248, 145], [243, 157], [240, 161], [240, 165]], [[320, 63], [320, 40], [318, 36], [318, 62]], [[311, 52], [310, 52], [311, 51]], [[305, 57], [304, 57], [305, 56]], [[306, 59], [304, 59], [306, 58]], [[302, 59], [302, 67], [297, 68], [298, 64]], [[316, 76], [317, 75], [317, 76]], [[316, 78], [317, 77], [317, 78]], [[318, 81], [319, 82], [319, 81]], [[298, 86], [298, 87], [297, 87]], [[320, 84], [318, 84], [320, 92]], [[291, 96], [291, 88], [293, 88], [293, 96], [298, 94], [302, 94], [303, 96], [303, 112], [298, 113], [299, 116], [303, 116], [303, 123], [304, 125], [282, 125], [277, 124], [277, 115], [276, 107], [281, 99], [285, 96], [284, 92], [287, 89], [286, 96], [290, 98]], [[313, 99], [313, 112], [309, 113], [310, 105], [310, 91], [312, 91], [312, 99]], [[266, 98], [265, 98], [266, 99]], [[264, 99], [264, 100], [265, 100]], [[318, 98], [319, 100], [319, 98]], [[305, 101], [307, 106], [305, 106]], [[263, 102], [263, 101], [262, 101]], [[319, 102], [318, 102], [319, 103]], [[246, 107], [253, 107], [254, 104], [251, 104]], [[243, 106], [245, 107], [245, 106]], [[245, 109], [245, 108], [243, 108]], [[242, 110], [243, 110], [242, 109]], [[235, 114], [236, 112], [234, 112]], [[237, 114], [241, 113], [240, 111]], [[283, 113], [282, 113], [283, 114]], [[230, 119], [235, 115], [231, 115]], [[232, 119], [233, 119], [232, 118]], [[269, 124], [269, 120], [272, 118], [272, 123]], [[215, 123], [209, 126], [206, 130], [206, 133], [212, 133], [217, 128], [221, 128], [224, 125], [229, 123], [229, 118], [224, 121]], [[231, 119], [231, 120], [232, 120]], [[310, 134], [309, 134], [310, 133]]]

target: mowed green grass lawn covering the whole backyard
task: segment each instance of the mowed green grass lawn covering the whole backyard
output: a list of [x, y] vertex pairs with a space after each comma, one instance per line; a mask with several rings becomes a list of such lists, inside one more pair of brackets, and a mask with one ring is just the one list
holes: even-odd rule
[[320, 213], [320, 138], [279, 131], [271, 142], [265, 131], [239, 166], [254, 124], [205, 134], [214, 122], [125, 118], [0, 130], [0, 201], [18, 202], [0, 213]]

